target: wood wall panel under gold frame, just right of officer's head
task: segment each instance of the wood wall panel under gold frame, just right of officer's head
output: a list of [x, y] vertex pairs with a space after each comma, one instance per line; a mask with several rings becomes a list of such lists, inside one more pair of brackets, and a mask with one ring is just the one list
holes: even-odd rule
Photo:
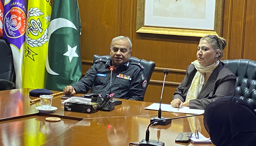
[[133, 56], [154, 61], [156, 67], [176, 68], [177, 55], [175, 54], [177, 54], [178, 41], [174, 36], [133, 33], [132, 41]]

